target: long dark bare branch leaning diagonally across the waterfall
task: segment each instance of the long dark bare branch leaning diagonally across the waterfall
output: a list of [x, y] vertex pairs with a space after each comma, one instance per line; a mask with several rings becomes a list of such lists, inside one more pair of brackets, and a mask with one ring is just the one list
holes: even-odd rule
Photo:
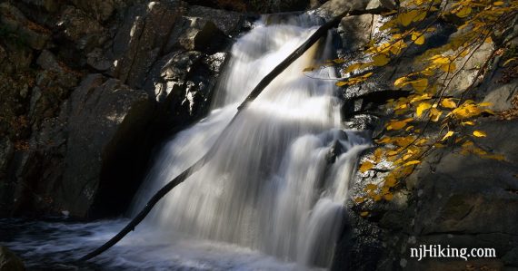
[[272, 72], [268, 73], [264, 78], [255, 86], [254, 90], [250, 92], [250, 94], [244, 99], [244, 102], [241, 103], [241, 105], [238, 107], [237, 113], [234, 115], [234, 118], [232, 121], [230, 121], [227, 126], [225, 127], [224, 131], [220, 135], [220, 137], [215, 140], [214, 146], [211, 147], [207, 151], [207, 153], [200, 159], [197, 160], [194, 165], [189, 167], [188, 169], [185, 169], [184, 172], [176, 176], [174, 179], [169, 181], [162, 189], [158, 190], [154, 196], [149, 199], [145, 207], [136, 215], [135, 218], [133, 218], [119, 233], [117, 233], [114, 237], [112, 237], [110, 240], [105, 242], [104, 245], [101, 247], [97, 247], [94, 251], [88, 253], [87, 255], [81, 257], [79, 260], [84, 261], [91, 259], [95, 256], [100, 255], [101, 253], [105, 252], [110, 247], [113, 247], [117, 242], [119, 242], [123, 237], [125, 237], [130, 231], [134, 230], [134, 227], [136, 227], [144, 218], [151, 212], [151, 210], [154, 208], [156, 203], [161, 198], [164, 198], [164, 196], [169, 193], [174, 187], [176, 187], [178, 184], [182, 183], [185, 179], [189, 178], [196, 170], [201, 169], [205, 161], [209, 160], [212, 155], [214, 154], [214, 151], [216, 150], [217, 143], [221, 141], [225, 136], [225, 131], [227, 131], [227, 128], [234, 122], [236, 117], [239, 115], [241, 111], [243, 111], [244, 108], [259, 96], [261, 92], [264, 91], [264, 88], [266, 88], [270, 82], [274, 81], [275, 77], [277, 77], [279, 74], [283, 73], [284, 70], [291, 64], [294, 63], [295, 60], [297, 60], [301, 55], [303, 55], [309, 48], [311, 48], [320, 38], [322, 38], [325, 34], [327, 34], [327, 31], [331, 28], [336, 27], [342, 18], [344, 16], [348, 15], [364, 15], [364, 14], [381, 14], [383, 12], [387, 12], [388, 10], [383, 7], [378, 7], [374, 9], [367, 9], [367, 10], [347, 10], [343, 14], [338, 15], [334, 17], [333, 20], [329, 21], [328, 23], [320, 26], [314, 34], [312, 34], [307, 41], [304, 42], [301, 46], [299, 46], [293, 53], [291, 53], [288, 57], [284, 59], [284, 61], [280, 64], [278, 64]]

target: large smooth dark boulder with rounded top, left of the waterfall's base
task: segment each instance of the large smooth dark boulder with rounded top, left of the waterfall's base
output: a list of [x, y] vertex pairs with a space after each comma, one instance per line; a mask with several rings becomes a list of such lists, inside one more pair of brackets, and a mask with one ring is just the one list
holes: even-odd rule
[[68, 104], [65, 172], [55, 191], [55, 208], [85, 218], [100, 187], [120, 184], [119, 191], [125, 189], [125, 179], [103, 179], [103, 170], [116, 163], [116, 159], [124, 159], [117, 156], [120, 151], [130, 150], [131, 154], [132, 148], [138, 149], [131, 144], [138, 144], [135, 140], [144, 134], [153, 106], [145, 92], [131, 89], [119, 80], [91, 74], [81, 82]]

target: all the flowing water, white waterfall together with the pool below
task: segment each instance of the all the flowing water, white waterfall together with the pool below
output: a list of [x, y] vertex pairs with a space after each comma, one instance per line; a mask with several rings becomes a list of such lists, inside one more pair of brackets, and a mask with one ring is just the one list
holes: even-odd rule
[[[308, 23], [310, 22], [310, 23]], [[369, 140], [341, 120], [332, 38], [315, 44], [232, 122], [254, 86], [314, 33], [316, 23], [260, 20], [240, 37], [220, 77], [210, 114], [165, 142], [130, 207], [217, 142], [214, 156], [154, 208], [136, 230], [88, 263], [127, 219], [92, 223], [0, 220], [0, 242], [30, 269], [320, 270], [331, 266], [359, 153]], [[330, 35], [329, 35], [330, 36]]]

